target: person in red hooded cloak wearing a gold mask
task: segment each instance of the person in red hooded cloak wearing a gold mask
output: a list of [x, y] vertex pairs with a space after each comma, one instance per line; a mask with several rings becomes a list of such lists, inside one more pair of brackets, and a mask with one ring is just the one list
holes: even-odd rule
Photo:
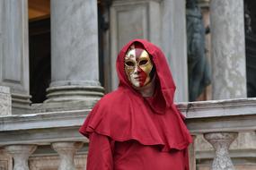
[[117, 58], [119, 88], [105, 95], [80, 132], [87, 170], [189, 170], [190, 132], [173, 103], [175, 85], [159, 47], [134, 39]]

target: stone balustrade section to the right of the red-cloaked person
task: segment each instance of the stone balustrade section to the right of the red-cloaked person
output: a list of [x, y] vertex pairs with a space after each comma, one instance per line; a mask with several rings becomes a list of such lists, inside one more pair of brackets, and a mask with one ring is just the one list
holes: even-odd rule
[[[187, 126], [195, 137], [203, 134], [215, 149], [212, 170], [233, 170], [230, 144], [239, 132], [256, 130], [256, 98], [181, 103]], [[254, 141], [255, 142], [255, 141]], [[190, 169], [195, 170], [195, 155], [190, 149]]]

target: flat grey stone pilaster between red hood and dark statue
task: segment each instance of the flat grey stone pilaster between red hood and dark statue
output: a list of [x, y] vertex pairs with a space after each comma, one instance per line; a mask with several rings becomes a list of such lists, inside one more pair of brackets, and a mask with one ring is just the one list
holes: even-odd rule
[[186, 0], [163, 0], [161, 7], [161, 47], [168, 58], [177, 87], [174, 99], [176, 102], [189, 101]]

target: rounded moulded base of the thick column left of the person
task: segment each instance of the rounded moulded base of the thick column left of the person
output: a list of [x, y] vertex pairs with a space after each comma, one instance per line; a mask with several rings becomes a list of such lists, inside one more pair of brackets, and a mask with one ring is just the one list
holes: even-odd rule
[[49, 102], [66, 101], [92, 101], [99, 100], [104, 95], [104, 89], [101, 86], [58, 86], [47, 89], [47, 100]]

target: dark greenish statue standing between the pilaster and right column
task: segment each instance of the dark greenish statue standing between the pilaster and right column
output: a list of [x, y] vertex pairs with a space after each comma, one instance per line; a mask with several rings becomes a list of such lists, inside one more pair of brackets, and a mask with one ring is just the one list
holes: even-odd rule
[[187, 0], [186, 18], [190, 101], [195, 101], [210, 84], [205, 49], [206, 29], [197, 0]]

